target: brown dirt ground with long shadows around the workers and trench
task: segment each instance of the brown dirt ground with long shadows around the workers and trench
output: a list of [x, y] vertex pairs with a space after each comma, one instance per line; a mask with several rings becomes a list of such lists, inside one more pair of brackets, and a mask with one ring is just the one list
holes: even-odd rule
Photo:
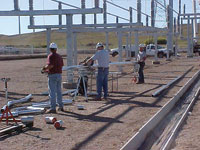
[[[79, 56], [79, 60], [83, 58], [85, 55]], [[172, 61], [160, 59], [158, 65], [152, 65], [152, 60], [153, 58], [148, 58], [146, 61], [145, 84], [134, 84], [132, 82], [133, 67], [125, 66], [123, 68], [125, 73], [118, 76], [118, 90], [116, 76], [114, 76], [113, 92], [111, 91], [112, 82], [109, 81], [110, 92], [107, 101], [94, 101], [92, 97], [89, 97], [89, 102], [85, 102], [84, 97], [78, 96], [73, 105], [65, 105], [64, 112], [33, 115], [34, 127], [22, 133], [0, 137], [0, 149], [120, 149], [199, 69], [199, 57], [186, 58], [184, 53], [181, 57], [173, 57]], [[40, 68], [45, 62], [45, 58], [0, 62], [0, 78], [11, 78], [8, 82], [9, 100], [19, 99], [28, 94], [33, 94], [31, 102], [17, 106], [48, 100], [48, 96], [41, 95], [47, 91], [47, 77], [40, 73]], [[162, 85], [184, 74], [191, 66], [193, 69], [172, 88], [159, 97], [152, 97], [152, 94]], [[117, 67], [111, 66], [110, 71], [117, 71]], [[66, 72], [63, 72], [63, 81], [65, 80]], [[93, 89], [95, 89], [94, 81]], [[69, 98], [63, 97], [63, 99]], [[4, 104], [6, 104], [4, 83], [0, 82], [0, 107]], [[84, 105], [85, 109], [78, 110], [78, 104]], [[177, 139], [174, 149], [200, 149], [198, 145], [200, 131], [197, 131], [200, 122], [199, 107], [200, 104], [197, 101], [192, 115], [188, 117], [183, 131], [179, 134], [180, 138]], [[63, 128], [56, 130], [53, 125], [46, 124], [44, 121], [46, 116], [54, 116], [62, 120]]]

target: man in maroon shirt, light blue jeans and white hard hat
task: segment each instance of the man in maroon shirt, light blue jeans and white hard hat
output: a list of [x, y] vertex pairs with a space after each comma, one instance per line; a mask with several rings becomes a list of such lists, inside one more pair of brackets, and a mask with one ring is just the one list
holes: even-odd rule
[[57, 45], [55, 43], [50, 44], [51, 53], [47, 58], [47, 65], [42, 68], [43, 72], [48, 73], [48, 91], [51, 107], [47, 110], [47, 113], [56, 113], [56, 102], [59, 105], [58, 110], [63, 110], [62, 102], [62, 66], [64, 65], [62, 57], [56, 53]]

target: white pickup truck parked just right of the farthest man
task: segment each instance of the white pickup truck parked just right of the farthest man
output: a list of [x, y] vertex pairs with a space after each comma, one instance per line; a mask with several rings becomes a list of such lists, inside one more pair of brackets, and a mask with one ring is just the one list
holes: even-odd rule
[[[159, 58], [163, 58], [163, 57], [167, 57], [167, 49], [162, 47], [162, 46], [157, 46], [158, 49], [158, 57]], [[154, 56], [155, 55], [155, 45], [154, 44], [149, 44], [146, 46], [146, 54], [147, 56]], [[173, 55], [172, 51], [169, 51], [169, 56]]]

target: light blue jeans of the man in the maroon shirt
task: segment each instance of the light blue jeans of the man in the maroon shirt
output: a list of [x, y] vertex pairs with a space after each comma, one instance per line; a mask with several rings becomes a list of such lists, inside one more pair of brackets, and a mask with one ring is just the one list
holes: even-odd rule
[[48, 90], [49, 90], [49, 99], [51, 104], [51, 109], [56, 109], [56, 102], [59, 107], [63, 107], [62, 102], [62, 74], [49, 74], [48, 75]]

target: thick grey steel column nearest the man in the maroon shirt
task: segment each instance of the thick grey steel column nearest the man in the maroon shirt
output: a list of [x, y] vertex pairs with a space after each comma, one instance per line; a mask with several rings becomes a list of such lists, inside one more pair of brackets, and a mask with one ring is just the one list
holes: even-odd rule
[[[66, 45], [67, 45], [67, 66], [73, 65], [73, 33], [72, 33], [72, 15], [66, 15]], [[68, 83], [73, 83], [73, 72], [67, 71]]]

